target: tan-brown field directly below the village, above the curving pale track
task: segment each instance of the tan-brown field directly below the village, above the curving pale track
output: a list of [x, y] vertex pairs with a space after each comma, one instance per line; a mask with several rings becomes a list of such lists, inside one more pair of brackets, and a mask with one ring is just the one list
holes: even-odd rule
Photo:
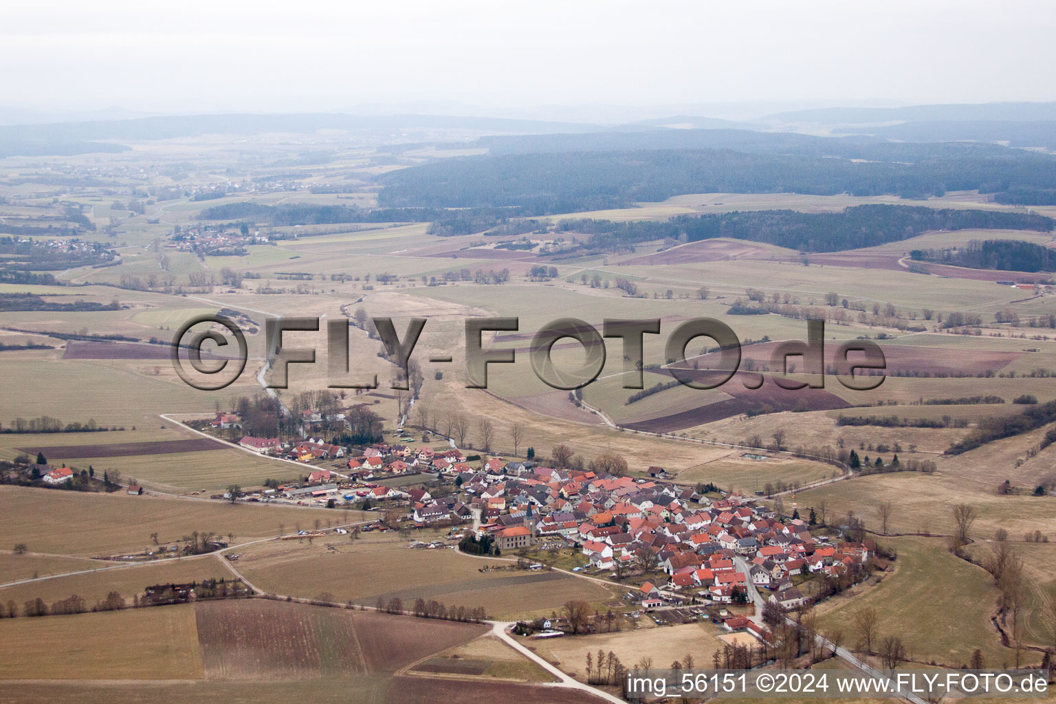
[[266, 591], [315, 597], [333, 594], [339, 602], [374, 606], [378, 597], [436, 600], [448, 606], [485, 607], [491, 617], [548, 615], [573, 598], [602, 603], [608, 589], [560, 572], [497, 570], [510, 563], [459, 554], [454, 550], [411, 550], [418, 534], [363, 534], [358, 540], [286, 540], [248, 548], [239, 571]]

